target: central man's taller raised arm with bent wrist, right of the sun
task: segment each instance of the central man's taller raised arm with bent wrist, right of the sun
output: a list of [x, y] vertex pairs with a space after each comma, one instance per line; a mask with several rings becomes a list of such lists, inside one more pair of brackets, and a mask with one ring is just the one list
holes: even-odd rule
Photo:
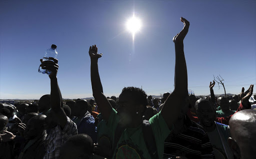
[[183, 17], [181, 17], [180, 20], [183, 22], [184, 27], [176, 36], [173, 37], [173, 42], [175, 45], [174, 90], [164, 102], [164, 106], [161, 110], [162, 117], [169, 129], [172, 128], [172, 124], [177, 119], [181, 108], [185, 106], [188, 96], [183, 39], [188, 32], [189, 22]]

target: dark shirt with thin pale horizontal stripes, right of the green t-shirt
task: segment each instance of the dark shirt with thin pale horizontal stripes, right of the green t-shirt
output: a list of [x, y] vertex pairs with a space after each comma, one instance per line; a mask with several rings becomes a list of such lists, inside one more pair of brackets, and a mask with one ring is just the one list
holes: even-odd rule
[[163, 159], [186, 157], [187, 159], [214, 159], [213, 150], [207, 134], [195, 122], [189, 121], [186, 129], [169, 136], [164, 141]]

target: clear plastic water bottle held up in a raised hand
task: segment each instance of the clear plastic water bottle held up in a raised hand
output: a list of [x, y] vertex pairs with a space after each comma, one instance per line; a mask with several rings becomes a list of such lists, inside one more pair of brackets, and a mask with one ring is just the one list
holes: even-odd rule
[[[42, 58], [42, 61], [52, 61], [52, 60], [49, 59], [49, 57], [56, 58], [56, 57], [57, 57], [57, 54], [58, 54], [57, 51], [56, 51], [56, 48], [57, 48], [57, 46], [54, 45], [54, 44], [52, 44], [51, 47], [45, 51], [45, 54], [44, 54], [44, 56], [43, 56], [43, 58]], [[53, 61], [53, 62], [54, 62], [54, 61]], [[42, 73], [42, 74], [45, 74], [45, 73], [46, 73], [46, 74], [48, 74], [48, 75], [51, 73], [50, 70], [42, 69], [41, 66], [39, 66], [38, 72], [39, 72], [39, 73]]]

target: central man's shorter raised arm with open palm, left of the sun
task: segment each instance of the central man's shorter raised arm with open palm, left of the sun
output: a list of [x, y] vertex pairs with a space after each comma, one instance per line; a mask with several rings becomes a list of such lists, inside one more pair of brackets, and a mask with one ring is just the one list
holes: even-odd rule
[[103, 119], [108, 120], [112, 107], [103, 94], [103, 88], [98, 74], [98, 58], [100, 58], [102, 54], [98, 54], [97, 51], [98, 48], [96, 47], [96, 45], [90, 46], [90, 80], [92, 94], [95, 98], [98, 108], [100, 109], [100, 113], [102, 114]]

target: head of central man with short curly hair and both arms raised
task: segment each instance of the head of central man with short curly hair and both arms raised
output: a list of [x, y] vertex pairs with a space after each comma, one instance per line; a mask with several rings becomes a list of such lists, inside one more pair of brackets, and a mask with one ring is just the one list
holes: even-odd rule
[[136, 87], [124, 87], [117, 102], [117, 112], [121, 117], [120, 122], [130, 125], [142, 118], [148, 105], [146, 93]]

